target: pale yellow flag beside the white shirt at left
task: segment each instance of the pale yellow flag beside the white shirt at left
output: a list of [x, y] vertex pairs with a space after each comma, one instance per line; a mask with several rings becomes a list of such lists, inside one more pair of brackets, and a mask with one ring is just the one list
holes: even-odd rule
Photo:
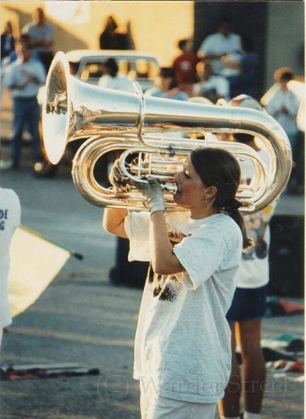
[[22, 313], [48, 287], [71, 252], [20, 226], [10, 244], [9, 300], [12, 317]]

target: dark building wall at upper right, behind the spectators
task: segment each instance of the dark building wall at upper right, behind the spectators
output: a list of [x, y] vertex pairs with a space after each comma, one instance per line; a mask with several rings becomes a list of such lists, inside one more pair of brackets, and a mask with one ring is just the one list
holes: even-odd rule
[[263, 94], [273, 83], [274, 71], [291, 66], [296, 75], [305, 74], [305, 2], [283, 1], [196, 1], [196, 46], [216, 31], [222, 15], [232, 21], [233, 31], [249, 34], [260, 57], [259, 76]]

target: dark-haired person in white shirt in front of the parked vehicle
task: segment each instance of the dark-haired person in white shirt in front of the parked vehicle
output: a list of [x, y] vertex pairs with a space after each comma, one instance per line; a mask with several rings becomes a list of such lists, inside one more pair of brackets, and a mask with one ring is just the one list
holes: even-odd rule
[[99, 79], [99, 87], [134, 92], [133, 79], [118, 74], [118, 64], [114, 58], [108, 58], [102, 65], [103, 75]]

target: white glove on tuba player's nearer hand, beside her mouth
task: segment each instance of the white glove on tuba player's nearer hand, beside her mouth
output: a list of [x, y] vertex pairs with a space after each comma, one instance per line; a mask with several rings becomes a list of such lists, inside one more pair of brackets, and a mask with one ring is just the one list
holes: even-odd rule
[[147, 177], [147, 182], [137, 182], [136, 187], [143, 193], [143, 204], [151, 214], [156, 211], [166, 211], [163, 191], [154, 177]]

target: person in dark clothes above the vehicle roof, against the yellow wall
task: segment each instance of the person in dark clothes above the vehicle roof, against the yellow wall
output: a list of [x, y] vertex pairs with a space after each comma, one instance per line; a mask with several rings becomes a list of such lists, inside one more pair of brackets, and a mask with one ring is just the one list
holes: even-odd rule
[[105, 27], [99, 38], [101, 50], [128, 50], [129, 39], [126, 34], [117, 31], [118, 25], [114, 17], [108, 16]]

